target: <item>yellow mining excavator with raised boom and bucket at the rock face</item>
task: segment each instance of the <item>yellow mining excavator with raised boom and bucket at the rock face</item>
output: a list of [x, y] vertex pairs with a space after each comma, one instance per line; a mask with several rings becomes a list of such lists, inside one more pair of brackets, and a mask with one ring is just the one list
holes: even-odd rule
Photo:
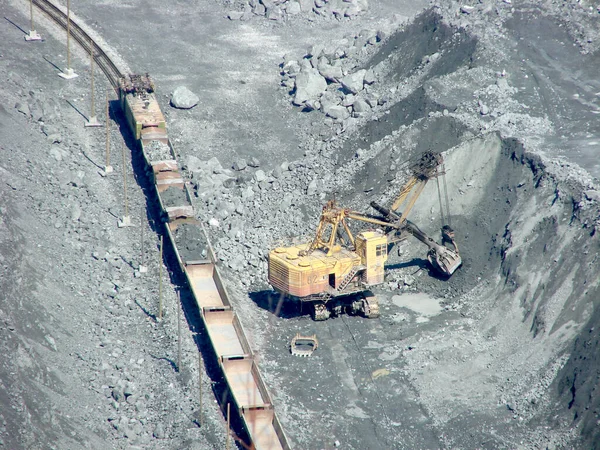
[[[323, 207], [311, 242], [278, 247], [269, 253], [269, 283], [273, 288], [310, 305], [314, 320], [326, 320], [344, 310], [368, 318], [379, 317], [377, 298], [369, 288], [383, 283], [389, 248], [409, 235], [429, 247], [427, 259], [436, 272], [451, 276], [462, 260], [449, 224], [443, 225], [442, 244], [438, 244], [407, 220], [427, 182], [444, 175], [442, 155], [425, 152], [411, 172], [391, 208], [371, 202], [378, 216], [341, 208], [329, 201]], [[439, 181], [438, 194], [443, 220]], [[447, 217], [449, 220], [449, 214]], [[354, 235], [349, 219], [372, 227]]]

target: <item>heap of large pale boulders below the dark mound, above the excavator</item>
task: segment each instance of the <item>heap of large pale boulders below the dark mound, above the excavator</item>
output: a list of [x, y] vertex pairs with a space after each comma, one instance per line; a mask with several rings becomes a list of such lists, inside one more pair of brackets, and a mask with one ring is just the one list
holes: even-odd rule
[[383, 39], [381, 31], [363, 30], [337, 45], [315, 44], [300, 61], [285, 57], [281, 84], [292, 103], [307, 111], [320, 110], [339, 122], [367, 116], [385, 100], [372, 89], [377, 81], [373, 69], [358, 68], [355, 57]]

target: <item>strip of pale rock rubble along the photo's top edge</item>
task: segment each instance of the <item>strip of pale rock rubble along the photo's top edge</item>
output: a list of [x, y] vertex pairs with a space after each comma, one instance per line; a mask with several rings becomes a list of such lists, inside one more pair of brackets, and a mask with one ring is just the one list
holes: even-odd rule
[[248, 0], [236, 5], [227, 17], [249, 20], [253, 15], [273, 21], [287, 20], [302, 14], [351, 19], [369, 9], [368, 0]]

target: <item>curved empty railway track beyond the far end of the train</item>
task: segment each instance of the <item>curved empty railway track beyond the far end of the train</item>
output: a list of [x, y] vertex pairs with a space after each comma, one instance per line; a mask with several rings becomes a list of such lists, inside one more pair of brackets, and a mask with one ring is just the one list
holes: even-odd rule
[[[63, 29], [67, 29], [67, 13], [63, 12], [56, 5], [51, 3], [49, 0], [33, 0], [33, 4], [37, 6], [42, 12], [50, 17]], [[94, 39], [86, 33], [79, 25], [71, 20], [70, 23], [71, 36], [75, 39], [81, 47], [87, 52], [93, 50], [94, 61], [98, 64], [98, 67], [102, 69], [102, 72], [108, 78], [108, 81], [112, 85], [115, 92], [119, 89], [119, 80], [123, 76], [122, 72], [116, 66], [116, 64], [109, 58], [102, 48], [96, 44]]]

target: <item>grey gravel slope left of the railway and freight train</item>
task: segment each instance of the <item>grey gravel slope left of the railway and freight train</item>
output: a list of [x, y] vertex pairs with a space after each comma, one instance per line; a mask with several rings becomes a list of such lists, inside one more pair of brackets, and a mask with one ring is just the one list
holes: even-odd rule
[[[24, 24], [7, 5], [3, 15]], [[24, 25], [23, 25], [24, 26]], [[184, 325], [177, 364], [177, 296], [164, 279], [158, 312], [156, 224], [148, 223], [127, 155], [123, 215], [121, 149], [113, 123], [115, 173], [101, 177], [104, 129], [85, 129], [89, 73], [65, 82], [47, 61], [62, 44], [26, 43], [0, 27], [0, 445], [2, 448], [224, 447], [212, 395], [197, 425], [198, 352]], [[58, 59], [58, 58], [57, 58]], [[58, 61], [57, 61], [58, 63]], [[100, 85], [98, 98], [104, 93]], [[104, 121], [104, 114], [101, 115]], [[115, 156], [116, 155], [116, 156]], [[148, 189], [148, 183], [142, 185]], [[147, 274], [140, 263], [140, 212]], [[210, 393], [210, 379], [204, 379]]]

